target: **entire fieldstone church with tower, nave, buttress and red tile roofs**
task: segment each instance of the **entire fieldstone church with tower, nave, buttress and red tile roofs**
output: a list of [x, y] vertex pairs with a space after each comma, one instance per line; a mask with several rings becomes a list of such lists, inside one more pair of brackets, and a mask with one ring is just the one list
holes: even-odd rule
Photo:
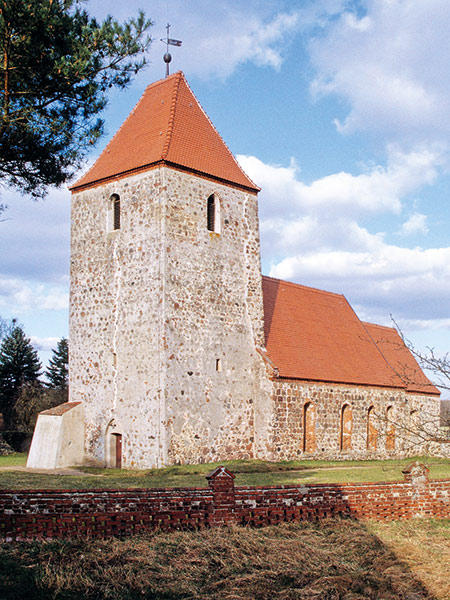
[[71, 191], [70, 400], [28, 466], [426, 451], [439, 391], [344, 296], [262, 276], [259, 188], [181, 72]]

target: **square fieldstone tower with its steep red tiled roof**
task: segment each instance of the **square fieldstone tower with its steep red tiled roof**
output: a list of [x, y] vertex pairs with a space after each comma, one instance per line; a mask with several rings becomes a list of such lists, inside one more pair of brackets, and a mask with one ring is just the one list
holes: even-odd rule
[[253, 457], [258, 188], [182, 73], [146, 89], [72, 192], [70, 401], [85, 458]]

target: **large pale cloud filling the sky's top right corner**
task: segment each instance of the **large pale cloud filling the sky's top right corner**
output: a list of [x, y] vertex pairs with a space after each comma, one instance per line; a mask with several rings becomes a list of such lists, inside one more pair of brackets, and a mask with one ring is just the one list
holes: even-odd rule
[[367, 0], [311, 44], [315, 94], [349, 103], [343, 132], [374, 130], [389, 139], [443, 139], [450, 132], [448, 0]]

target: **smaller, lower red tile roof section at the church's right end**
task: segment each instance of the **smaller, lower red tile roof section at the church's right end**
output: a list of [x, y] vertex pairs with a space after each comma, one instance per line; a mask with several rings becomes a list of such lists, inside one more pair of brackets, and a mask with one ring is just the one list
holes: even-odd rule
[[440, 394], [439, 390], [425, 376], [416, 359], [393, 327], [384, 327], [374, 323], [363, 323], [363, 325], [381, 350], [387, 363], [403, 380], [408, 392]]

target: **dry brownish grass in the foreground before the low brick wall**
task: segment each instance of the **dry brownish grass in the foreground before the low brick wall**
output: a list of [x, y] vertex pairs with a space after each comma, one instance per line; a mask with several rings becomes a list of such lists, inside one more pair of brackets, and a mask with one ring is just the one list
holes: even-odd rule
[[2, 600], [448, 600], [450, 522], [0, 544]]

